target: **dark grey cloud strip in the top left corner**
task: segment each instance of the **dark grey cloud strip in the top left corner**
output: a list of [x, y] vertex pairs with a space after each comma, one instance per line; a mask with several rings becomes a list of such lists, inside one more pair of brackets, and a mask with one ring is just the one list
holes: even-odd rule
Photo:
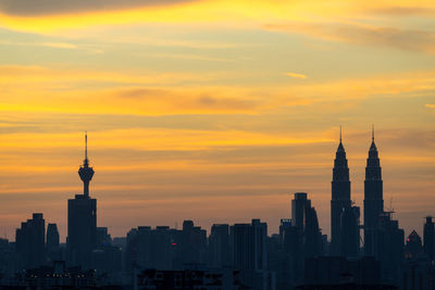
[[160, 7], [189, 0], [0, 0], [0, 11], [16, 16], [114, 11], [138, 7]]

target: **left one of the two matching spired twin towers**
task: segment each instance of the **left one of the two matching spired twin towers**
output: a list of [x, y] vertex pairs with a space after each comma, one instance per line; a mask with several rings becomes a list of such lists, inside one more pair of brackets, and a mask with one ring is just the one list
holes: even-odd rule
[[[341, 227], [341, 214], [345, 210], [350, 209], [350, 180], [349, 180], [349, 167], [346, 159], [345, 147], [341, 142], [341, 129], [339, 144], [337, 152], [335, 153], [334, 168], [333, 168], [333, 180], [332, 180], [332, 199], [331, 199], [331, 253], [333, 255], [345, 255], [341, 249], [343, 238], [340, 234], [347, 228]], [[347, 214], [346, 216], [349, 216]], [[350, 223], [350, 220], [344, 220]]]

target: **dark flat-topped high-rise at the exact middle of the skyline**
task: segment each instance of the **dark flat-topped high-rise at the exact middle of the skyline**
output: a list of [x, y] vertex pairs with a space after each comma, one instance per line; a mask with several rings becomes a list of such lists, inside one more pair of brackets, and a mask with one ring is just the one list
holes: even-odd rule
[[211, 227], [209, 266], [217, 268], [232, 266], [229, 226], [227, 224]]

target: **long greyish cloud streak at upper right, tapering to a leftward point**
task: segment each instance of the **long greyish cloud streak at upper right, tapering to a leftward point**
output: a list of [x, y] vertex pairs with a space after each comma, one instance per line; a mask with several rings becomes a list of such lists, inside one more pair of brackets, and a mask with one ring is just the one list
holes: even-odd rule
[[383, 46], [409, 51], [435, 53], [435, 34], [428, 30], [399, 29], [348, 23], [289, 22], [268, 24], [270, 30], [309, 35], [351, 45]]

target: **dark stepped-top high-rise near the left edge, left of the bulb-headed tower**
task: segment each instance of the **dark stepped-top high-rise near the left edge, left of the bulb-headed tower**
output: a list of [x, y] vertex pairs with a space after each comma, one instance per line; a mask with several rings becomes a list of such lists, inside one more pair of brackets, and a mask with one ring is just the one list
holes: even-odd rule
[[34, 268], [46, 262], [46, 220], [42, 214], [33, 214], [32, 219], [16, 229], [15, 247], [23, 269]]

